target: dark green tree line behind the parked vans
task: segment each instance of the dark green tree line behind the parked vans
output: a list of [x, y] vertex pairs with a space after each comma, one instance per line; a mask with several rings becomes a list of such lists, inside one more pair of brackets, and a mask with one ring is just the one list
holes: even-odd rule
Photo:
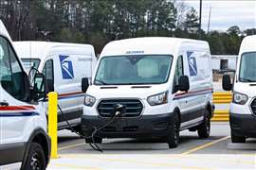
[[15, 41], [90, 43], [97, 53], [114, 40], [200, 33], [212, 54], [235, 55], [245, 34], [256, 34], [238, 26], [199, 30], [197, 11], [179, 0], [0, 0], [0, 19]]

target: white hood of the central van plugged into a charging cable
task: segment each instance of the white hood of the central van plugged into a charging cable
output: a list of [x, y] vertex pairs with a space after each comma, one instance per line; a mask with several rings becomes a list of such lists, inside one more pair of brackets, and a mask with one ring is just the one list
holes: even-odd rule
[[140, 98], [163, 93], [168, 90], [166, 84], [162, 85], [119, 85], [119, 86], [90, 86], [87, 94], [92, 95], [96, 100], [102, 98]]

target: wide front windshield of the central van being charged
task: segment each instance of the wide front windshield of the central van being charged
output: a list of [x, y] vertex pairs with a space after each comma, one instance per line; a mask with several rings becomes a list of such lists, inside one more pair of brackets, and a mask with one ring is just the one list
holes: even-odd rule
[[115, 56], [101, 59], [94, 84], [162, 84], [167, 82], [172, 56]]

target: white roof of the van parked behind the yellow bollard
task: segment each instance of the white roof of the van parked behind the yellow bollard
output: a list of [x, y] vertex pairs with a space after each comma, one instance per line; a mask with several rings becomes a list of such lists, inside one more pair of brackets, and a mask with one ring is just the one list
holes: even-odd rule
[[60, 47], [80, 48], [82, 54], [94, 56], [94, 48], [91, 44], [27, 41], [13, 42], [13, 46], [21, 59], [45, 59], [51, 49]]

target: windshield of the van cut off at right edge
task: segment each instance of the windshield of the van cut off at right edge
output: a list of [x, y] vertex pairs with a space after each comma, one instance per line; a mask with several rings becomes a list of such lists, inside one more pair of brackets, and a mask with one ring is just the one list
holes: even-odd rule
[[241, 82], [256, 82], [256, 52], [242, 55], [239, 80]]

